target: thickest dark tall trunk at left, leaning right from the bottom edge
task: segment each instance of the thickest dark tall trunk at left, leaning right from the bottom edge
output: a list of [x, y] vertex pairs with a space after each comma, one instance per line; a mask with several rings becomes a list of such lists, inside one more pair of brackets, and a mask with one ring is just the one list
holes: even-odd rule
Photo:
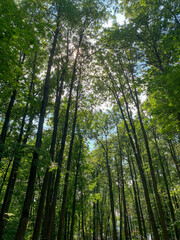
[[34, 184], [36, 179], [36, 171], [37, 171], [37, 165], [39, 160], [39, 149], [41, 147], [42, 143], [42, 133], [43, 133], [43, 125], [44, 125], [44, 118], [46, 114], [46, 106], [48, 103], [48, 94], [49, 94], [49, 83], [50, 83], [50, 73], [51, 73], [51, 67], [54, 57], [54, 52], [56, 48], [57, 43], [57, 37], [59, 33], [59, 22], [57, 23], [57, 28], [54, 34], [54, 40], [53, 45], [50, 52], [49, 62], [48, 62], [48, 70], [46, 74], [45, 84], [44, 84], [44, 94], [43, 94], [43, 100], [42, 100], [42, 106], [40, 111], [40, 117], [39, 117], [39, 124], [38, 124], [38, 131], [37, 131], [37, 137], [36, 137], [36, 144], [35, 144], [35, 151], [33, 153], [33, 159], [31, 163], [31, 170], [30, 170], [30, 176], [28, 181], [28, 187], [26, 191], [26, 197], [22, 209], [21, 219], [19, 222], [18, 230], [16, 233], [16, 240], [23, 240], [26, 226], [29, 218], [29, 210], [32, 203], [32, 196], [34, 192]]

